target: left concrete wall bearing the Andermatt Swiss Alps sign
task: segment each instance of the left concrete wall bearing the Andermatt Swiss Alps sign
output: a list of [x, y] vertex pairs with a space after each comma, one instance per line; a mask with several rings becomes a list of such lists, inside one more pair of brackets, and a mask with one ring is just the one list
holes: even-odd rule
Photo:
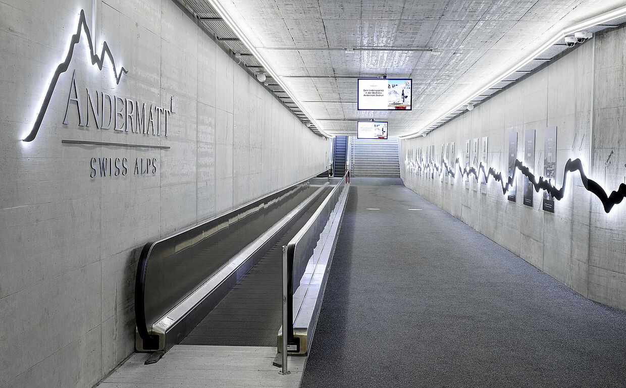
[[[144, 243], [326, 170], [327, 141], [172, 0], [95, 4], [94, 27], [91, 1], [0, 0], [1, 387], [96, 384], [133, 352]], [[83, 35], [36, 139], [24, 143], [80, 9], [98, 53], [106, 39], [128, 74], [116, 85], [108, 61], [93, 66]], [[90, 89], [169, 108], [175, 96], [168, 136], [79, 126], [76, 103], [63, 125], [74, 69], [81, 100]], [[91, 158], [127, 158], [128, 174], [92, 178]], [[135, 175], [137, 158], [156, 171]]]

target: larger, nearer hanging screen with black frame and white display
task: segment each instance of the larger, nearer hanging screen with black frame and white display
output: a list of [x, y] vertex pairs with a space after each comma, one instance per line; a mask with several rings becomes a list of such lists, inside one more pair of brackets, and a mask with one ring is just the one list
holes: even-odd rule
[[360, 111], [411, 110], [413, 79], [359, 78]]

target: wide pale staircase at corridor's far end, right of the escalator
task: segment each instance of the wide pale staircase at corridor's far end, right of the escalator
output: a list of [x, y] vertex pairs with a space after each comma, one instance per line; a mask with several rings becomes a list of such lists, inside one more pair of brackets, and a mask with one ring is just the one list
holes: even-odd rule
[[399, 178], [398, 139], [370, 140], [351, 138], [351, 176], [388, 176]]

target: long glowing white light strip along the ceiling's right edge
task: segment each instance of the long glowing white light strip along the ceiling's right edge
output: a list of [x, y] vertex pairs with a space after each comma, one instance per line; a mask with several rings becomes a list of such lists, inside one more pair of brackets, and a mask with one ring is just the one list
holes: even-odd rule
[[[467, 105], [470, 101], [475, 100], [475, 98], [479, 96], [485, 96], [485, 94], [483, 93], [493, 88], [495, 84], [502, 82], [503, 79], [508, 79], [509, 77], [513, 75], [513, 73], [520, 71], [521, 68], [531, 63], [532, 61], [536, 61], [536, 60], [550, 61], [552, 58], [549, 58], [549, 59], [541, 58], [541, 54], [543, 54], [545, 51], [548, 51], [548, 49], [550, 49], [552, 46], [555, 46], [555, 44], [557, 44], [561, 39], [565, 38], [565, 36], [571, 35], [577, 31], [583, 31], [585, 29], [592, 28], [593, 26], [597, 26], [598, 24], [607, 23], [608, 21], [611, 21], [613, 19], [617, 19], [623, 16], [626, 16], [626, 6], [614, 9], [613, 11], [609, 11], [602, 15], [595, 16], [594, 18], [588, 19], [587, 21], [583, 21], [582, 23], [578, 23], [578, 24], [575, 24], [574, 26], [563, 29], [560, 33], [558, 33], [556, 36], [550, 39], [550, 41], [543, 44], [543, 46], [538, 48], [535, 52], [533, 52], [532, 54], [527, 56], [525, 59], [520, 61], [520, 63], [518, 63], [517, 66], [515, 66], [515, 68], [510, 69], [506, 71], [506, 73], [502, 74], [501, 76], [496, 77], [493, 81], [488, 83], [487, 86], [479, 89], [480, 91], [473, 94], [471, 98], [467, 98], [466, 100], [464, 100], [463, 103], [456, 105], [456, 108], [454, 108], [451, 111], [459, 110], [459, 108], [462, 108], [464, 105]], [[416, 138], [417, 136], [422, 135], [422, 133], [424, 133], [430, 126], [433, 126], [436, 123], [439, 123], [448, 115], [449, 113], [446, 113], [446, 115], [441, 116], [438, 120], [434, 120], [430, 125], [422, 128], [421, 130], [418, 130], [414, 133], [409, 133], [409, 135], [398, 136], [398, 138], [403, 139], [403, 140]]]

